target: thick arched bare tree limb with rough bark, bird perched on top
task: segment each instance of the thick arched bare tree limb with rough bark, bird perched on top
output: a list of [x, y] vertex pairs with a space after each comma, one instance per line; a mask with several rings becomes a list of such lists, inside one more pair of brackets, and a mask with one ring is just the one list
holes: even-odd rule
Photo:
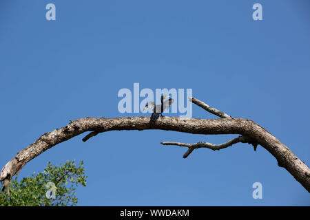
[[287, 146], [273, 137], [255, 122], [242, 118], [168, 118], [161, 117], [156, 122], [149, 122], [149, 117], [128, 118], [81, 118], [70, 122], [61, 129], [55, 129], [39, 137], [33, 144], [23, 148], [1, 170], [0, 181], [10, 180], [31, 159], [39, 156], [52, 146], [69, 140], [86, 131], [101, 133], [117, 130], [161, 129], [194, 134], [240, 134], [251, 137], [257, 144], [267, 149], [278, 165], [286, 168], [297, 181], [310, 192], [310, 170]]

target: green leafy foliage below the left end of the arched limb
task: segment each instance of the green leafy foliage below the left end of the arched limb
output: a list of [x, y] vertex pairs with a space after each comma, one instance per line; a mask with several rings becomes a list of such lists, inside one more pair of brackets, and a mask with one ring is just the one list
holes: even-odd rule
[[[31, 177], [21, 181], [12, 179], [10, 182], [10, 197], [6, 192], [0, 193], [1, 206], [76, 206], [75, 195], [77, 186], [86, 186], [83, 161], [76, 167], [74, 160], [63, 165], [54, 166], [48, 162], [42, 173], [33, 173]], [[51, 198], [48, 182], [56, 186], [55, 199]], [[48, 190], [50, 190], [48, 192]], [[48, 196], [46, 196], [48, 194]], [[48, 198], [50, 197], [50, 199]]]

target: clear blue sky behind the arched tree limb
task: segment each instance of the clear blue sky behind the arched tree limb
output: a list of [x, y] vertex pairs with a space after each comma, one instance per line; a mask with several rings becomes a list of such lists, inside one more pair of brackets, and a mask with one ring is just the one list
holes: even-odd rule
[[[45, 5], [56, 5], [56, 21]], [[262, 21], [252, 5], [262, 4]], [[0, 0], [0, 166], [69, 120], [126, 117], [121, 88], [190, 88], [193, 96], [265, 127], [310, 165], [310, 3], [304, 1]], [[149, 115], [149, 114], [146, 114]], [[177, 113], [167, 115], [178, 116]], [[194, 118], [216, 118], [193, 106]], [[310, 196], [265, 148], [222, 151], [236, 135], [174, 131], [85, 134], [29, 162], [83, 160], [81, 206], [309, 206]], [[262, 199], [252, 184], [262, 183]]]

